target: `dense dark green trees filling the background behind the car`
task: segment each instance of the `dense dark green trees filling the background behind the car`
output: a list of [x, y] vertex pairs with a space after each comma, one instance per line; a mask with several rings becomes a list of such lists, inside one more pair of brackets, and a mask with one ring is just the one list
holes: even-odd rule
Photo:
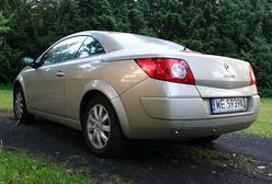
[[[83, 30], [132, 32], [249, 61], [272, 89], [271, 0], [2, 0], [0, 82], [11, 82], [22, 56]], [[272, 95], [272, 90], [269, 91]]]

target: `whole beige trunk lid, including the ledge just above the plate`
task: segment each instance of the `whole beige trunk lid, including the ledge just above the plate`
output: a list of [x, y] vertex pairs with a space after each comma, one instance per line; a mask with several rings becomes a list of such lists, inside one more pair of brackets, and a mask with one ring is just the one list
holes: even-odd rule
[[256, 85], [250, 85], [250, 65], [246, 61], [211, 55], [184, 55], [183, 59], [192, 69], [202, 97], [257, 94]]

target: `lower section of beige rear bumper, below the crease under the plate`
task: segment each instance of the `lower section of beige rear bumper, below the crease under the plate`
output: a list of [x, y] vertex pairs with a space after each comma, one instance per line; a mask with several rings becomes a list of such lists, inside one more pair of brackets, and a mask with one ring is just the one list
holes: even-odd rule
[[197, 120], [162, 120], [157, 119], [156, 124], [145, 122], [134, 125], [133, 139], [182, 139], [218, 136], [249, 127], [256, 120], [257, 114]]

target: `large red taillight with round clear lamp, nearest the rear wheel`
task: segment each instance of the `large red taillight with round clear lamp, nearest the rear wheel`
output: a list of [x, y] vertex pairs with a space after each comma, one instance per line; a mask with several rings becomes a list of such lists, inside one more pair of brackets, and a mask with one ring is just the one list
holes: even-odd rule
[[144, 58], [136, 59], [136, 62], [150, 78], [194, 84], [194, 76], [186, 61], [182, 59]]

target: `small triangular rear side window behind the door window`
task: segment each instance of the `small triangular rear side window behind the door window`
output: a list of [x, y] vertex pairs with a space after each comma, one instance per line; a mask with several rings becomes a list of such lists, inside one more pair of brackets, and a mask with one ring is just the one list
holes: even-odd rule
[[98, 55], [105, 53], [104, 48], [102, 45], [93, 37], [88, 37], [83, 45], [80, 47], [77, 58], [83, 58], [83, 57], [89, 57], [92, 55]]

